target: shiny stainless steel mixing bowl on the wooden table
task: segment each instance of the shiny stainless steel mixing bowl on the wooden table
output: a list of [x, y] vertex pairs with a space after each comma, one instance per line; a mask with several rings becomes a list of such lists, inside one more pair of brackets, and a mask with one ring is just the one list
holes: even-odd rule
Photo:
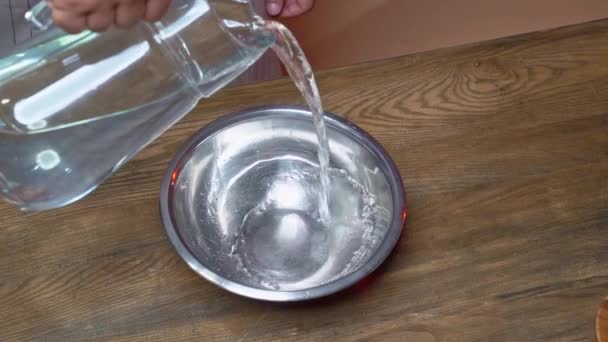
[[330, 210], [319, 219], [317, 140], [309, 111], [265, 107], [223, 117], [175, 157], [161, 211], [179, 255], [233, 293], [323, 297], [374, 271], [405, 220], [399, 172], [368, 134], [326, 116]]

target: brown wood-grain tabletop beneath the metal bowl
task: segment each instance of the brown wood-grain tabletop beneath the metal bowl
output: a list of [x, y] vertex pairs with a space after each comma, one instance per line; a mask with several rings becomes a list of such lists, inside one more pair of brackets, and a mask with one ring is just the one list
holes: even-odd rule
[[0, 340], [592, 340], [608, 295], [608, 21], [331, 70], [329, 111], [401, 169], [407, 238], [371, 281], [305, 304], [229, 294], [159, 220], [172, 154], [281, 80], [202, 103], [66, 209], [0, 206]]

